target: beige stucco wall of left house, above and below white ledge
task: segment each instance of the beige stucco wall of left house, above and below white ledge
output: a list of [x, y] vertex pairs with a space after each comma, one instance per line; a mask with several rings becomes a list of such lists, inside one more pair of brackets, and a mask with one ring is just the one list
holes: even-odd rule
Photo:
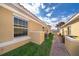
[[[28, 35], [31, 37], [30, 41], [37, 44], [41, 44], [44, 41], [44, 34], [46, 31], [49, 30], [47, 29], [47, 27], [45, 27], [45, 31], [43, 31], [43, 28], [42, 28], [43, 26], [37, 22], [32, 21], [34, 19], [32, 19], [31, 17], [28, 17], [28, 16], [23, 17], [20, 14], [14, 13], [0, 6], [0, 28], [1, 28], [0, 43], [14, 39], [14, 20], [13, 20], [14, 15], [20, 16], [24, 19], [28, 19]], [[13, 50], [28, 42], [29, 42], [28, 40], [21, 41], [16, 44], [12, 44], [12, 45], [0, 48], [0, 54]]]

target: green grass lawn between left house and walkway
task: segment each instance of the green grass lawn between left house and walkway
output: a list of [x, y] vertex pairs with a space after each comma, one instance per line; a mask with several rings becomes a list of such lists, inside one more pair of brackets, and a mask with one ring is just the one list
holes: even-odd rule
[[52, 39], [53, 34], [49, 34], [41, 45], [30, 42], [24, 46], [5, 53], [2, 56], [49, 56]]

